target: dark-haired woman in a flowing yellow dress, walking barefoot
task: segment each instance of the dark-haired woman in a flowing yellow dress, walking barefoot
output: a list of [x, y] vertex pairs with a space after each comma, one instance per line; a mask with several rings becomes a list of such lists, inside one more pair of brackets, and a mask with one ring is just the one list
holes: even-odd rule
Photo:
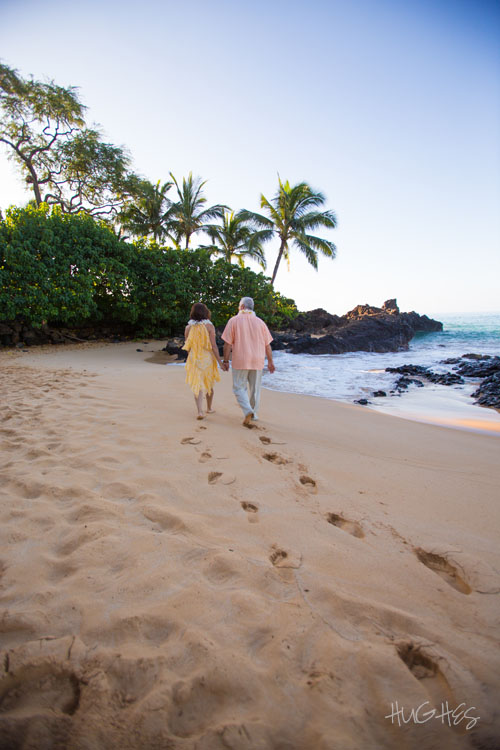
[[204, 395], [207, 399], [207, 413], [213, 413], [213, 384], [220, 380], [217, 363], [224, 369], [215, 343], [215, 328], [210, 321], [210, 310], [203, 303], [196, 302], [192, 306], [184, 336], [186, 343], [182, 348], [189, 352], [186, 362], [186, 383], [194, 393], [198, 409], [197, 419], [203, 419]]

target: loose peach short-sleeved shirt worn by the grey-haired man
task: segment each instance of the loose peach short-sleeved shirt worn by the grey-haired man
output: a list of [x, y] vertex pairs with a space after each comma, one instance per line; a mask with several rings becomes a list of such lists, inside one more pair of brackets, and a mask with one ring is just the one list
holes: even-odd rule
[[263, 370], [266, 346], [273, 337], [253, 311], [240, 310], [228, 320], [222, 340], [233, 347], [234, 370]]

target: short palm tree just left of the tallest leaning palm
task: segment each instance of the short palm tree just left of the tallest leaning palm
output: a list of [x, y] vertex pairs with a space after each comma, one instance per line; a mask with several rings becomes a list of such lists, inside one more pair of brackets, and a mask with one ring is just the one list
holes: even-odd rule
[[242, 268], [245, 266], [245, 258], [257, 261], [261, 268], [266, 268], [266, 259], [262, 243], [270, 239], [272, 233], [268, 230], [255, 231], [248, 226], [241, 211], [224, 211], [222, 224], [209, 225], [205, 232], [212, 240], [209, 249], [222, 255], [228, 263], [233, 258], [238, 260]]

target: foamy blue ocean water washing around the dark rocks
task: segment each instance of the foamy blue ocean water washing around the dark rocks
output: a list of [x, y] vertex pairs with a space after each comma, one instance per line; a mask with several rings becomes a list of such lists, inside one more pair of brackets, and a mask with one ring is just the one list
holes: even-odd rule
[[[404, 364], [424, 365], [435, 372], [452, 370], [442, 360], [463, 354], [500, 356], [500, 313], [434, 314], [444, 330], [417, 334], [409, 351], [377, 354], [288, 354], [275, 352], [276, 372], [264, 372], [263, 386], [271, 390], [301, 393], [310, 396], [352, 403], [360, 398], [370, 401], [365, 408], [394, 416], [434, 422], [447, 426], [497, 432], [500, 435], [500, 414], [494, 409], [474, 406], [471, 393], [477, 382], [464, 385], [410, 386], [407, 393], [389, 396], [397, 374], [386, 373], [386, 367]], [[373, 397], [377, 390], [388, 396]]]

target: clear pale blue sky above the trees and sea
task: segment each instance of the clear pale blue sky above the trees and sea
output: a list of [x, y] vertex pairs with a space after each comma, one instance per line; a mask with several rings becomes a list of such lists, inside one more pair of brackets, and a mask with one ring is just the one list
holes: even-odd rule
[[294, 252], [276, 280], [301, 309], [500, 310], [498, 2], [0, 0], [0, 50], [78, 86], [153, 181], [193, 171], [235, 209], [278, 172], [324, 192], [337, 259]]

